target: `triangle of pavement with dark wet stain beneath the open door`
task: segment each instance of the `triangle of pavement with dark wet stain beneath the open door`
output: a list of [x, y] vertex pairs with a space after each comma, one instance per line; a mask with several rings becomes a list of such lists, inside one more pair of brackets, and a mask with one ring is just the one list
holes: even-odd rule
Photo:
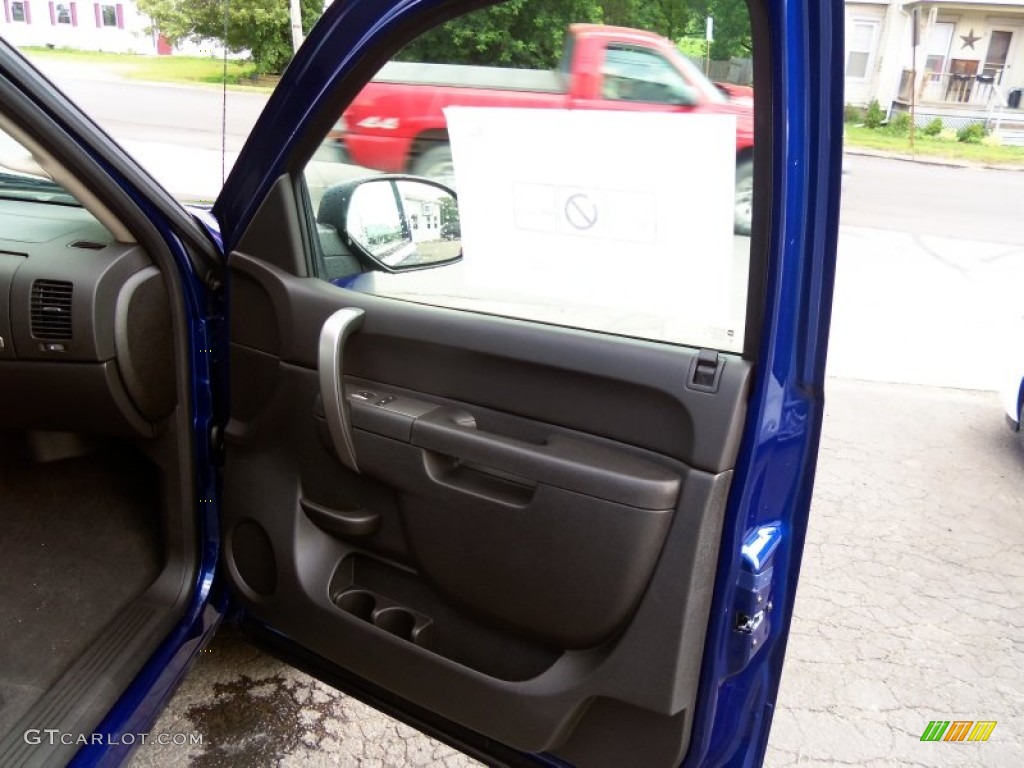
[[[202, 744], [156, 741], [159, 733]], [[221, 628], [131, 768], [468, 768], [478, 763], [343, 695]]]

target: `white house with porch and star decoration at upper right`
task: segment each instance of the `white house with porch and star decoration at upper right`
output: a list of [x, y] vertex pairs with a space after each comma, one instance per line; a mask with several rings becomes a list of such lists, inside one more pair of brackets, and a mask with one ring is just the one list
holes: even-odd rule
[[[916, 24], [916, 48], [914, 25]], [[1024, 5], [1002, 0], [846, 4], [846, 101], [953, 128], [1024, 118]], [[916, 51], [916, 58], [914, 57]]]

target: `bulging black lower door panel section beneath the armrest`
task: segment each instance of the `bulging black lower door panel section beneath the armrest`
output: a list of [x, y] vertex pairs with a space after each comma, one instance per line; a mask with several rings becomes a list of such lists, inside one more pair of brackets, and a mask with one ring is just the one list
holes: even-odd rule
[[361, 430], [355, 444], [365, 472], [398, 489], [424, 577], [478, 614], [558, 647], [591, 647], [622, 625], [672, 519], [672, 507], [530, 486]]

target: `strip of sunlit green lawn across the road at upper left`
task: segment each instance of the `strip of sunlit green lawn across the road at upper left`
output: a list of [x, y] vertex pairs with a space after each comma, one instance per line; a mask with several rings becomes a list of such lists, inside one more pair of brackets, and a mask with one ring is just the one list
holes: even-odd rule
[[[141, 56], [132, 53], [102, 53], [70, 48], [26, 47], [22, 50], [29, 58], [101, 65], [129, 80], [219, 85], [224, 71], [224, 62], [221, 59], [209, 56]], [[255, 68], [249, 61], [231, 59], [227, 62], [229, 85], [261, 85], [252, 80], [254, 73]]]

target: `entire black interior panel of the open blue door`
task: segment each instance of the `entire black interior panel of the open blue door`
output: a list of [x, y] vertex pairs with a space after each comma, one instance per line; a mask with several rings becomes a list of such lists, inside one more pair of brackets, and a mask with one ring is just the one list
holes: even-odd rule
[[[511, 746], [636, 764], [646, 733], [676, 759], [749, 365], [698, 392], [696, 350], [231, 264], [223, 525], [251, 615]], [[317, 371], [346, 306], [366, 312], [343, 361], [358, 471]]]

